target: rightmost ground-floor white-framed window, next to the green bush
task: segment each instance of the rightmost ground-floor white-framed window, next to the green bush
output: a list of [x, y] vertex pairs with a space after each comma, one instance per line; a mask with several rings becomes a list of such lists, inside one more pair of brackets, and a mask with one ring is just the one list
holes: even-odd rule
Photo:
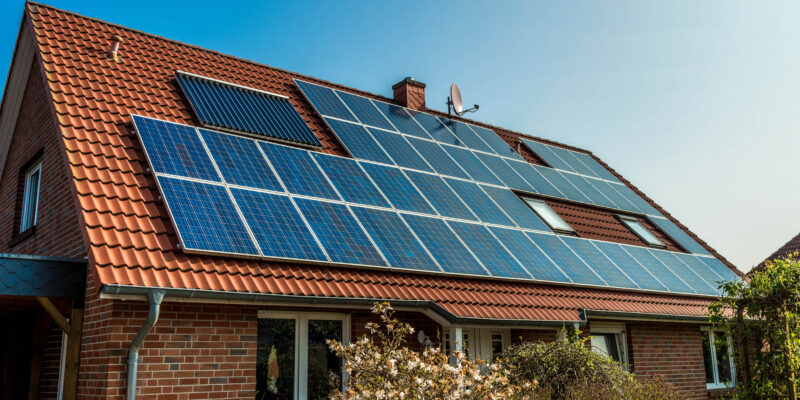
[[706, 386], [720, 389], [733, 386], [736, 371], [731, 354], [731, 336], [722, 331], [703, 328], [703, 360], [706, 367]]

